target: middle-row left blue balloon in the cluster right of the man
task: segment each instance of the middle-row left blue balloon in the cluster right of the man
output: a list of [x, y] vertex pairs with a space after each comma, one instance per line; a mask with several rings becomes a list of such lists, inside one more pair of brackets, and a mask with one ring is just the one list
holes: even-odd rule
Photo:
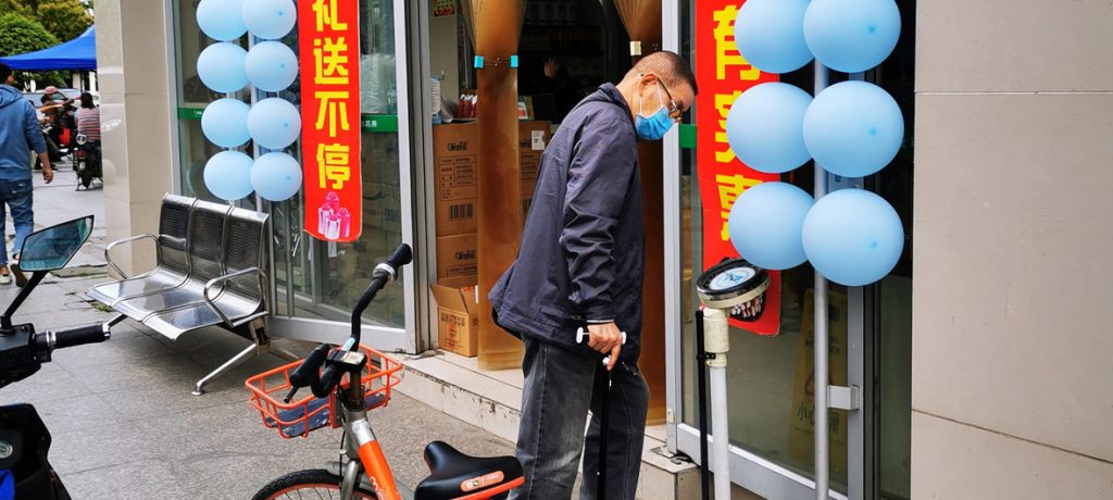
[[751, 87], [727, 114], [727, 141], [738, 159], [768, 174], [781, 174], [811, 158], [804, 145], [804, 114], [811, 96], [780, 82]]

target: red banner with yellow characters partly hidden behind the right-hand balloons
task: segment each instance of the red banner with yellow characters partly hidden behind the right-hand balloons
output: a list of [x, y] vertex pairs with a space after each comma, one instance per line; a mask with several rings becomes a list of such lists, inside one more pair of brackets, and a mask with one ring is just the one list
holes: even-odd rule
[[[746, 0], [696, 0], [696, 79], [700, 92], [696, 118], [696, 163], [703, 204], [703, 268], [737, 257], [727, 222], [735, 200], [747, 188], [776, 174], [762, 174], [738, 159], [727, 143], [727, 114], [747, 89], [777, 75], [750, 66], [735, 45], [735, 18]], [[754, 322], [732, 317], [730, 323], [761, 335], [780, 332], [780, 273], [769, 272], [770, 285], [761, 317]]]

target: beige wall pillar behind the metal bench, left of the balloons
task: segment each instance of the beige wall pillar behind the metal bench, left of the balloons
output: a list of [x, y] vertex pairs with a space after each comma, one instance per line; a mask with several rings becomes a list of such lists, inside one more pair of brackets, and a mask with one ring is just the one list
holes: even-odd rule
[[[97, 62], [108, 239], [158, 229], [171, 189], [166, 13], [160, 0], [97, 0]], [[134, 252], [132, 252], [134, 249]], [[134, 255], [132, 255], [134, 254]], [[114, 251], [125, 272], [150, 267], [150, 243]]]

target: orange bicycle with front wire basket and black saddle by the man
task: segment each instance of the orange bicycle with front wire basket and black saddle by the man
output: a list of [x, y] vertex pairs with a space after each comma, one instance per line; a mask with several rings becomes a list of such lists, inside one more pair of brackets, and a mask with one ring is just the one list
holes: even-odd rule
[[[321, 344], [304, 361], [260, 373], [247, 380], [249, 403], [268, 428], [286, 439], [308, 435], [326, 425], [343, 428], [343, 453], [327, 469], [292, 472], [275, 479], [255, 500], [339, 498], [398, 500], [401, 494], [386, 458], [367, 420], [367, 411], [385, 406], [402, 365], [390, 356], [359, 345], [359, 318], [398, 268], [412, 259], [401, 245], [375, 267], [367, 290], [352, 311], [352, 335], [339, 349]], [[290, 402], [303, 388], [312, 395]], [[284, 398], [276, 399], [280, 392]], [[505, 498], [522, 486], [522, 465], [514, 457], [469, 457], [441, 441], [425, 447], [431, 474], [414, 490], [415, 500], [485, 500]], [[335, 494], [338, 492], [338, 497]]]

